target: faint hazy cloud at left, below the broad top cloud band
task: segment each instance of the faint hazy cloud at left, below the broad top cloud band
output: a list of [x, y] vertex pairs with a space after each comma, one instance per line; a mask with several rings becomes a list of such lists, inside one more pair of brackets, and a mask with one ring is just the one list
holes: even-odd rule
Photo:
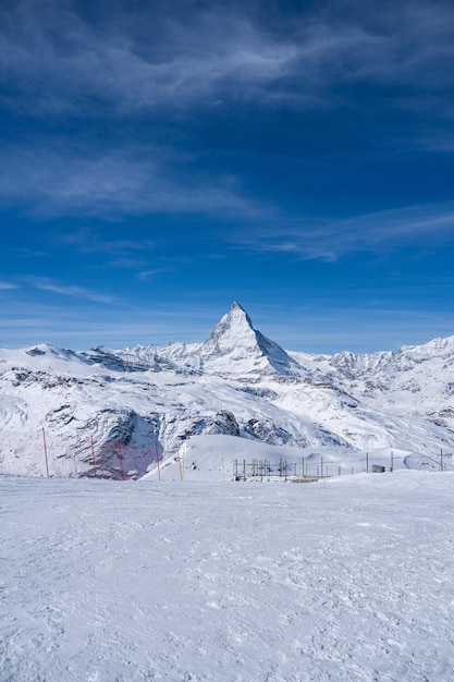
[[[162, 153], [161, 153], [162, 156]], [[164, 161], [144, 160], [152, 150], [107, 150], [10, 146], [0, 154], [8, 168], [0, 179], [3, 204], [22, 203], [36, 217], [96, 215], [121, 217], [154, 212], [259, 215], [231, 176], [176, 172]]]

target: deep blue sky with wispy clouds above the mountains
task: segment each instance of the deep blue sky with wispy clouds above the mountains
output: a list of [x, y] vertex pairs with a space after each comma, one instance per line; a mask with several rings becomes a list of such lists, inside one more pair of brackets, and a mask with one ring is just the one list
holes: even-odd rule
[[0, 346], [454, 334], [452, 0], [2, 0]]

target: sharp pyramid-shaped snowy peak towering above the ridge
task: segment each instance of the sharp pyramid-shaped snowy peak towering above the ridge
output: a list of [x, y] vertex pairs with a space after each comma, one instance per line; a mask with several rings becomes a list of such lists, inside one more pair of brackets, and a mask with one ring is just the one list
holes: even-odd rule
[[278, 343], [254, 329], [250, 317], [237, 301], [201, 344], [199, 355], [206, 368], [229, 374], [268, 374], [271, 370], [285, 376], [307, 376]]

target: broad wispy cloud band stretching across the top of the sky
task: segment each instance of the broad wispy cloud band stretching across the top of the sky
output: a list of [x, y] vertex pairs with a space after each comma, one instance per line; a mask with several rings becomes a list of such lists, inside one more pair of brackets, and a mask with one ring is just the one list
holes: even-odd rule
[[[225, 98], [332, 106], [333, 89], [355, 83], [404, 86], [396, 99], [412, 94], [415, 103], [415, 93], [420, 100], [424, 89], [454, 83], [450, 3], [367, 2], [345, 16], [334, 3], [331, 12], [281, 17], [281, 31], [221, 4], [181, 14], [173, 5], [172, 15], [159, 4], [135, 13], [113, 4], [102, 25], [70, 1], [8, 4], [0, 76], [11, 97], [3, 101], [30, 114], [106, 115], [108, 106], [124, 115]], [[346, 88], [341, 97], [348, 99]]]

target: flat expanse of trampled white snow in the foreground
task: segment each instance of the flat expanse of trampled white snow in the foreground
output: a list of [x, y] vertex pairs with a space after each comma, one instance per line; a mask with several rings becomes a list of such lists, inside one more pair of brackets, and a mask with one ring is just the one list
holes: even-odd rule
[[454, 679], [454, 474], [0, 478], [0, 680]]

